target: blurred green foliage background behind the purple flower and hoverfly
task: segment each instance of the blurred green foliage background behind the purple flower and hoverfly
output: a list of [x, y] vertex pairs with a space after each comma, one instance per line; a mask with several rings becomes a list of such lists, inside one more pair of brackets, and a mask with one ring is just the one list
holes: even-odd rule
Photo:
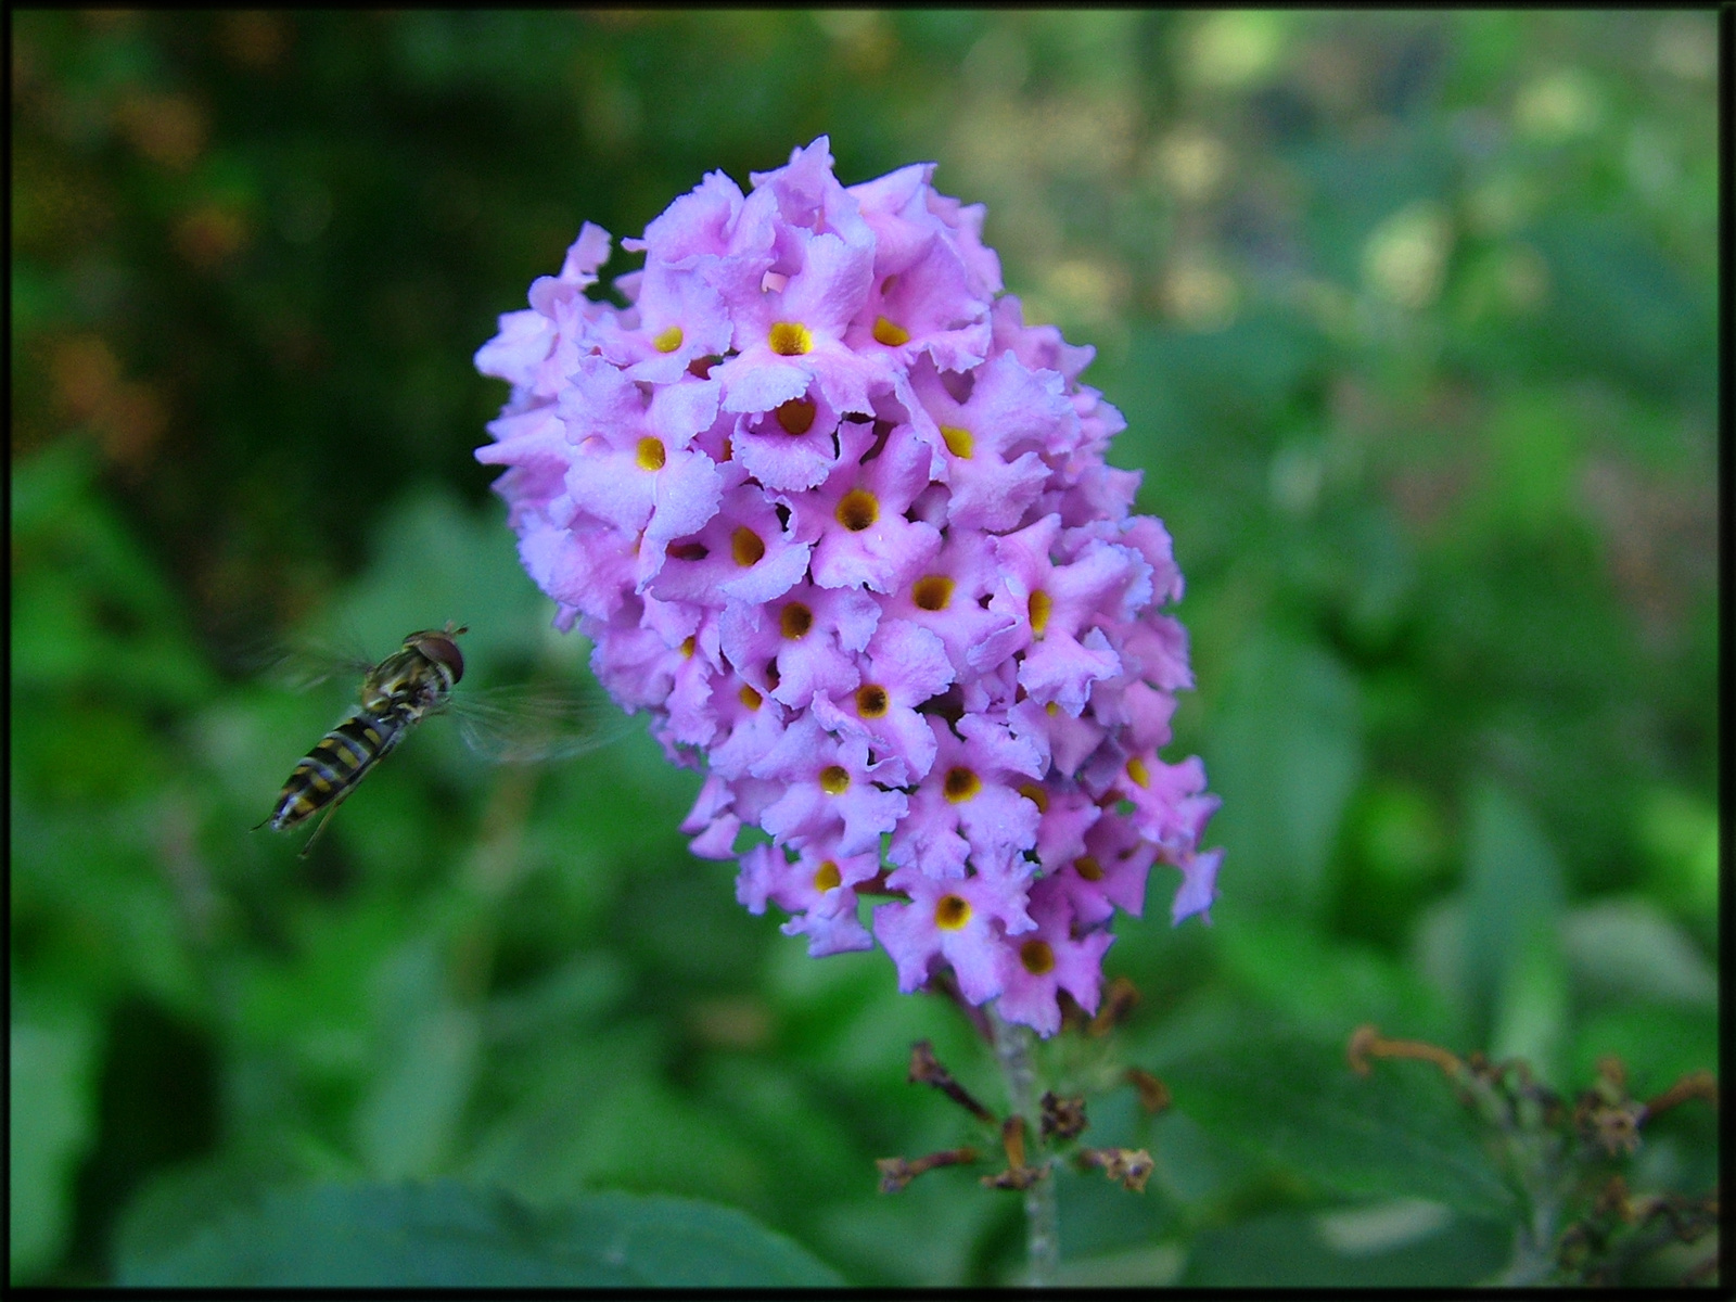
[[[14, 1281], [424, 1177], [727, 1203], [858, 1283], [1012, 1278], [1014, 1200], [875, 1193], [873, 1158], [970, 1137], [904, 1083], [930, 1038], [991, 1097], [969, 1028], [748, 917], [639, 731], [490, 771], [436, 722], [307, 861], [247, 833], [342, 693], [243, 648], [458, 618], [484, 684], [583, 675], [470, 458], [503, 398], [470, 354], [582, 220], [635, 234], [821, 132], [845, 182], [932, 158], [988, 203], [1187, 575], [1175, 753], [1224, 797], [1224, 898], [1172, 932], [1160, 877], [1120, 925], [1121, 1050], [1177, 1108], [1092, 1102], [1158, 1170], [1059, 1177], [1064, 1278], [1502, 1264], [1446, 1158], [1406, 1189], [1391, 1153], [1226, 1142], [1354, 1113], [1338, 1055], [1257, 1031], [1375, 1021], [1562, 1090], [1608, 1052], [1641, 1095], [1713, 1066], [1712, 14], [10, 24]], [[1693, 1113], [1644, 1175], [1712, 1182]]]

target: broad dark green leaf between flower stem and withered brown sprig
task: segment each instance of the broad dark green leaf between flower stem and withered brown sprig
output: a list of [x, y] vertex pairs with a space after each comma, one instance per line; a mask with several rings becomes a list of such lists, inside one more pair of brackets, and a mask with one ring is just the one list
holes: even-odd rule
[[1512, 1196], [1453, 1087], [1422, 1062], [1351, 1071], [1344, 1043], [1246, 1036], [1158, 1066], [1175, 1106], [1224, 1144], [1352, 1198], [1429, 1198], [1503, 1215]]

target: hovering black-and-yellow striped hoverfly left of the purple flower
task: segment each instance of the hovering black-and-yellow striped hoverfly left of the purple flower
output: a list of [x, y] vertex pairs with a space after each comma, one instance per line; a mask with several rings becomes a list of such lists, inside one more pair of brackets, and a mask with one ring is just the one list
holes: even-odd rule
[[[285, 832], [325, 811], [314, 833], [302, 845], [300, 858], [319, 840], [326, 823], [349, 793], [373, 767], [391, 755], [424, 719], [451, 710], [465, 745], [484, 759], [500, 762], [535, 762], [578, 755], [613, 740], [616, 729], [602, 724], [590, 701], [561, 693], [526, 693], [496, 687], [493, 691], [455, 694], [464, 677], [464, 653], [458, 635], [467, 627], [424, 628], [404, 637], [404, 644], [377, 665], [340, 661], [312, 677], [311, 686], [339, 668], [363, 674], [359, 705], [314, 745], [290, 773], [278, 802], [264, 823]], [[618, 722], [625, 722], [616, 715]]]

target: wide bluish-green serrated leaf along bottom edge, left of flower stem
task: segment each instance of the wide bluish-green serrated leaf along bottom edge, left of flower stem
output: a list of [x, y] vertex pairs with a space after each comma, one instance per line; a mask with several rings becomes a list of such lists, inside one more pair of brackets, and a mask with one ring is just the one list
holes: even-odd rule
[[595, 1194], [536, 1212], [496, 1191], [319, 1186], [266, 1196], [181, 1246], [122, 1255], [128, 1286], [793, 1288], [842, 1279], [727, 1207]]

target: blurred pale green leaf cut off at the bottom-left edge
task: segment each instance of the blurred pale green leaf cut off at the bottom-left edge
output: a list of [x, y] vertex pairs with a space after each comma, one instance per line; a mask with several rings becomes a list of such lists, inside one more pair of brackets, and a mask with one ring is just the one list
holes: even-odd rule
[[54, 1264], [71, 1217], [73, 1167], [90, 1142], [94, 1035], [83, 1019], [10, 1028], [10, 1278]]

